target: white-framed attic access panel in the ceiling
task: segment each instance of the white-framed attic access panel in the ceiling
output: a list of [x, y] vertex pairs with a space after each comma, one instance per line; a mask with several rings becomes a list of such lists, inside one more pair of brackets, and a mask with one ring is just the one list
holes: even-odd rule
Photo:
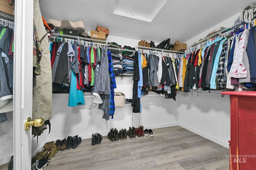
[[113, 14], [151, 22], [167, 0], [116, 0]]

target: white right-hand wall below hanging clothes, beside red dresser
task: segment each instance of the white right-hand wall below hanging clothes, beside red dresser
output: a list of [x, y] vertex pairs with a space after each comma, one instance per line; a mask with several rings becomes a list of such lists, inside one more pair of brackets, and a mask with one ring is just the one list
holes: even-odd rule
[[179, 125], [228, 148], [230, 100], [207, 93], [177, 97]]

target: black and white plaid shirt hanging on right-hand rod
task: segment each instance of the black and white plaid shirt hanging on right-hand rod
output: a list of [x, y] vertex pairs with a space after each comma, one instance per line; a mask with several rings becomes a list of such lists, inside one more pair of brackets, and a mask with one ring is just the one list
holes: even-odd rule
[[228, 54], [228, 40], [225, 41], [225, 43], [222, 47], [220, 62], [219, 62], [218, 69], [216, 72], [216, 76], [218, 78], [218, 87], [220, 87], [220, 88], [226, 88], [226, 81], [224, 80], [224, 76], [226, 76], [226, 75], [224, 75], [224, 70], [225, 70], [227, 54]]

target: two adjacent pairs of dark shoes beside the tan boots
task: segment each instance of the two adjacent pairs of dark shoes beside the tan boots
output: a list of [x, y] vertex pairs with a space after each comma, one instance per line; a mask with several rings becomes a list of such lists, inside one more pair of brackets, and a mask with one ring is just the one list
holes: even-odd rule
[[57, 140], [55, 142], [55, 146], [57, 147], [57, 150], [66, 150], [66, 149], [75, 149], [76, 147], [78, 147], [78, 145], [82, 142], [81, 137], [79, 137], [78, 135], [72, 137], [72, 136], [68, 136], [67, 139], [64, 138], [63, 140]]

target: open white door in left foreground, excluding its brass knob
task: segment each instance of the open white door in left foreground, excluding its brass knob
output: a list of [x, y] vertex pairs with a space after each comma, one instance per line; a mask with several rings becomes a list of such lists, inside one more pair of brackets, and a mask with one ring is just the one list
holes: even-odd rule
[[31, 169], [33, 89], [33, 0], [15, 0], [14, 28], [14, 169]]

